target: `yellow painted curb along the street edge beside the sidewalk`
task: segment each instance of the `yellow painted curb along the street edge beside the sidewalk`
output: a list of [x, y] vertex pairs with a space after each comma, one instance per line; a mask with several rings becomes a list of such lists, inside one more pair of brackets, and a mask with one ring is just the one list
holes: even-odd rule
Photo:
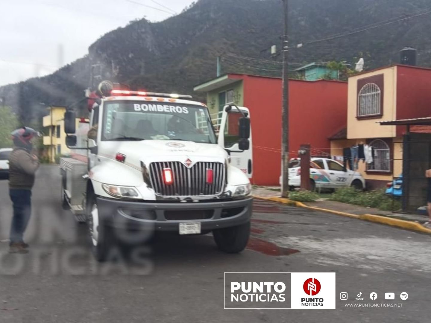
[[431, 229], [428, 229], [428, 228], [422, 226], [421, 224], [419, 224], [417, 222], [413, 222], [413, 221], [394, 219], [392, 217], [384, 217], [381, 215], [374, 215], [374, 214], [356, 215], [356, 214], [350, 214], [350, 213], [346, 213], [346, 212], [328, 210], [327, 208], [316, 208], [314, 206], [308, 206], [308, 205], [305, 205], [304, 203], [292, 201], [290, 199], [284, 199], [282, 197], [262, 197], [262, 196], [253, 196], [253, 197], [255, 199], [261, 199], [261, 200], [272, 201], [272, 202], [279, 202], [279, 203], [287, 204], [290, 206], [297, 206], [300, 208], [307, 208], [309, 210], [322, 211], [322, 212], [342, 215], [344, 217], [352, 217], [354, 219], [371, 221], [371, 222], [376, 222], [376, 223], [380, 223], [380, 224], [390, 225], [393, 227], [399, 227], [399, 228], [403, 228], [403, 229], [414, 230], [414, 231], [419, 231], [422, 233], [431, 234]]

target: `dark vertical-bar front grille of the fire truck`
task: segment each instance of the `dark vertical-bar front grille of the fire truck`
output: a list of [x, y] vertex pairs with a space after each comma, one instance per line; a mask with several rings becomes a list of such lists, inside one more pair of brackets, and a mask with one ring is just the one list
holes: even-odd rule
[[[166, 185], [163, 168], [171, 168], [173, 183]], [[206, 170], [212, 169], [213, 180], [206, 183]], [[150, 164], [151, 185], [160, 196], [206, 196], [222, 193], [226, 182], [225, 165], [215, 162], [197, 162], [187, 168], [181, 162], [154, 162]]]

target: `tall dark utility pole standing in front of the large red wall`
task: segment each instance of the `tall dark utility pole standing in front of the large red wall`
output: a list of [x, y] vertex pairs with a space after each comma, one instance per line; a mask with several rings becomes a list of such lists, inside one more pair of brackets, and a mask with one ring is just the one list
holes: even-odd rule
[[289, 196], [289, 28], [288, 28], [288, 1], [283, 0], [284, 6], [284, 34], [283, 34], [283, 108], [282, 142], [281, 142], [281, 197]]

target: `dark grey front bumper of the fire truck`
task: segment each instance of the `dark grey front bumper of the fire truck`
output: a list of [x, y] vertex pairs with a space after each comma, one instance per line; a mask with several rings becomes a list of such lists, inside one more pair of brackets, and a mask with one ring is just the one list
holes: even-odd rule
[[119, 229], [176, 231], [181, 222], [200, 222], [202, 231], [250, 221], [253, 198], [217, 202], [129, 202], [97, 197], [100, 220]]

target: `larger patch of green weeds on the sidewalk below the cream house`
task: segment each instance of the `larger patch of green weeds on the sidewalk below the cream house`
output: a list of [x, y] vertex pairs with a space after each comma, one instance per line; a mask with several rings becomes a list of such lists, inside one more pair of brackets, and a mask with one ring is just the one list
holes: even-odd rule
[[337, 189], [329, 199], [370, 208], [379, 208], [384, 211], [396, 211], [401, 208], [400, 202], [393, 201], [390, 196], [384, 193], [384, 189], [362, 192], [353, 187], [346, 187]]

